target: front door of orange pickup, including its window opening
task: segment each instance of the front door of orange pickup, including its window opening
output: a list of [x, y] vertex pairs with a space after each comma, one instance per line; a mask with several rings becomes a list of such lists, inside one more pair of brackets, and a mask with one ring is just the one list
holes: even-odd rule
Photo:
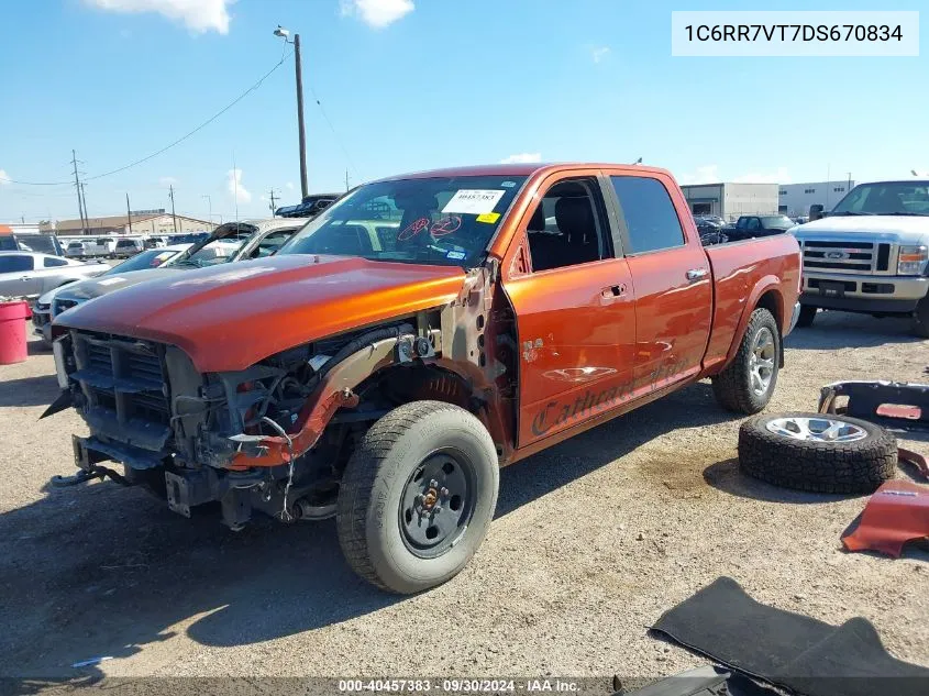
[[630, 398], [632, 279], [598, 172], [580, 174], [542, 184], [512, 244], [530, 258], [518, 270], [505, 264], [519, 333], [519, 446]]

